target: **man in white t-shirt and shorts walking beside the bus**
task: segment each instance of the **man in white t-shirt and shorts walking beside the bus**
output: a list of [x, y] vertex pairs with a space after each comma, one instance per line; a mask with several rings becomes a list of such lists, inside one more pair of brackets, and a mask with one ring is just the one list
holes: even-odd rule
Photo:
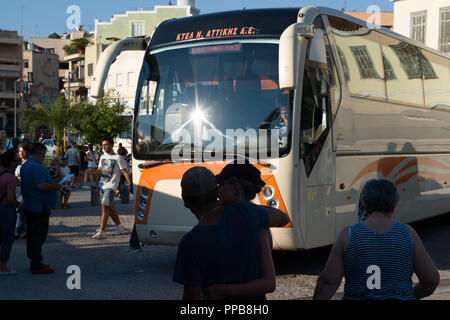
[[123, 158], [113, 150], [114, 140], [112, 138], [103, 138], [102, 147], [105, 152], [99, 160], [97, 174], [100, 174], [100, 193], [102, 197], [102, 217], [100, 228], [92, 236], [94, 239], [103, 239], [104, 230], [111, 216], [116, 224], [116, 231], [113, 235], [120, 235], [126, 231], [126, 228], [120, 223], [119, 214], [114, 208], [114, 196], [119, 186], [120, 176], [123, 174], [127, 182], [131, 185], [131, 179], [128, 175], [127, 164]]

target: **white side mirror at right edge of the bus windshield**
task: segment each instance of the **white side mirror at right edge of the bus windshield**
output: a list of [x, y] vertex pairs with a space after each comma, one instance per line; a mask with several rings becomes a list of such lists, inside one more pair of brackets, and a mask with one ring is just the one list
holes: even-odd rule
[[291, 24], [281, 34], [278, 48], [278, 77], [281, 90], [295, 89], [297, 28]]

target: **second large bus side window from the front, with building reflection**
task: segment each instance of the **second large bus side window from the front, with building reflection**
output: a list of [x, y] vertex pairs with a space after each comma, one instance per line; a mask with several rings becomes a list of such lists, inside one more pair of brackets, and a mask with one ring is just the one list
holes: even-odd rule
[[385, 58], [387, 97], [391, 102], [423, 106], [422, 71], [418, 49], [380, 35]]

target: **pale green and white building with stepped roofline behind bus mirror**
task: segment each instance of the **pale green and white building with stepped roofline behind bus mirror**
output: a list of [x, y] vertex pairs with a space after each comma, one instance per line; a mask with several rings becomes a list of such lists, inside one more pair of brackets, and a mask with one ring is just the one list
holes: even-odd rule
[[[198, 14], [195, 0], [178, 0], [177, 5], [155, 6], [154, 10], [126, 11], [117, 14], [109, 22], [95, 20], [95, 37], [98, 46], [109, 45], [128, 37], [151, 37], [156, 27], [163, 21]], [[93, 49], [94, 50], [94, 49]], [[98, 49], [95, 49], [97, 54]], [[102, 50], [103, 51], [103, 50]], [[98, 61], [98, 55], [95, 62]], [[142, 66], [144, 51], [123, 52], [111, 65], [105, 90], [115, 89], [127, 105], [126, 114], [131, 115], [134, 107], [136, 84]], [[86, 58], [87, 59], [87, 58]], [[92, 67], [91, 67], [92, 64]], [[88, 71], [95, 70], [94, 59], [90, 58]], [[90, 76], [89, 76], [90, 77]], [[90, 81], [88, 80], [90, 88]]]

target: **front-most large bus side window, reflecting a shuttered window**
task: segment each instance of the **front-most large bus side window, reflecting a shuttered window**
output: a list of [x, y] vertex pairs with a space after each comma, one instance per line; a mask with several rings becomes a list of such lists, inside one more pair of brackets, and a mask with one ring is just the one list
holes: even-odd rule
[[386, 100], [383, 58], [378, 32], [328, 16], [350, 94]]

